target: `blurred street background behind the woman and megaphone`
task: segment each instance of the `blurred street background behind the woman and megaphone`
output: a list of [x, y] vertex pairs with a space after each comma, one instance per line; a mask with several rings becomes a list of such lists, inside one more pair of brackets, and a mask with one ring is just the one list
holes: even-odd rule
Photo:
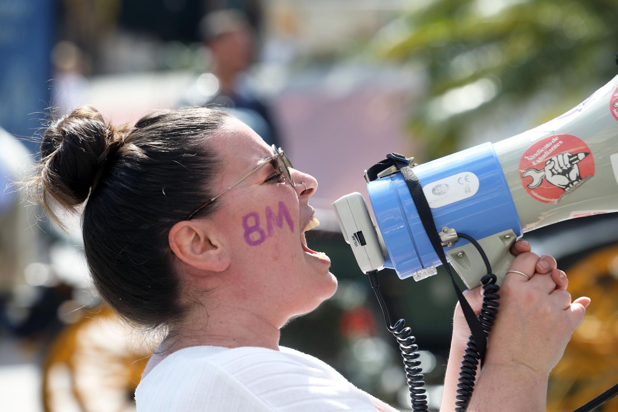
[[[285, 148], [320, 189], [309, 246], [332, 259], [335, 296], [282, 331], [399, 410], [396, 342], [331, 203], [399, 152], [426, 162], [506, 139], [583, 101], [617, 74], [611, 0], [0, 0], [0, 410], [132, 411], [156, 342], [102, 306], [78, 216], [69, 234], [17, 190], [49, 113], [93, 105], [114, 122], [218, 103]], [[570, 291], [594, 302], [549, 385], [571, 411], [618, 380], [618, 219], [584, 217], [525, 236]], [[455, 296], [441, 268], [381, 272], [394, 316], [421, 348], [438, 410]], [[496, 388], [499, 390], [499, 388]], [[599, 410], [618, 410], [611, 401]]]

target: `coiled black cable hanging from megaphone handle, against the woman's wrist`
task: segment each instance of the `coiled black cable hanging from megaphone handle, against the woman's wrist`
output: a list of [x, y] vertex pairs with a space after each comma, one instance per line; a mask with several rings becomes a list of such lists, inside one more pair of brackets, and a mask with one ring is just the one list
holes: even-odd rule
[[[483, 258], [483, 262], [485, 262], [485, 267], [487, 268], [487, 275], [481, 278], [481, 284], [483, 285], [483, 306], [481, 307], [481, 312], [478, 315], [478, 320], [481, 322], [485, 335], [488, 335], [494, 324], [494, 320], [496, 320], [496, 314], [498, 312], [497, 307], [499, 306], [499, 303], [497, 303], [497, 299], [500, 299], [500, 295], [497, 294], [497, 291], [500, 290], [500, 286], [496, 285], [497, 277], [491, 273], [491, 264], [489, 264], [489, 259], [487, 259], [487, 255], [485, 254], [485, 251], [483, 251], [480, 244], [465, 233], [457, 233], [457, 236], [466, 239], [476, 247]], [[455, 412], [465, 412], [468, 407], [468, 403], [470, 403], [470, 398], [472, 397], [476, 379], [476, 369], [480, 360], [482, 361], [482, 359], [480, 359], [480, 353], [478, 348], [476, 348], [474, 338], [470, 335], [464, 351], [462, 366], [459, 371]]]

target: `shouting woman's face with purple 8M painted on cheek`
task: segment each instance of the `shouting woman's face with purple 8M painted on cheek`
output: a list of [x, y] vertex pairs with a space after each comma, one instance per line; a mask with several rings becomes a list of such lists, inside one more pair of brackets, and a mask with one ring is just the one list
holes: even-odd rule
[[[209, 144], [223, 159], [214, 194], [273, 154], [259, 135], [233, 118]], [[282, 323], [315, 309], [337, 288], [328, 270], [330, 259], [305, 246], [303, 230], [314, 212], [308, 202], [318, 182], [294, 169], [290, 173], [296, 187], [285, 173], [277, 178], [279, 171], [273, 165], [263, 166], [222, 195], [218, 200], [224, 205], [209, 218], [231, 258], [227, 273], [221, 274], [227, 295], [234, 294], [239, 304], [250, 304], [257, 311], [275, 311]]]

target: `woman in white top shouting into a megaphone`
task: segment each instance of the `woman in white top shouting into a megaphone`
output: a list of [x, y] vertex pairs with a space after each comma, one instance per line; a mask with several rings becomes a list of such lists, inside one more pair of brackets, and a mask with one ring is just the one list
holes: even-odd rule
[[[146, 367], [138, 411], [394, 411], [327, 364], [282, 348], [279, 330], [337, 288], [308, 249], [318, 187], [282, 152], [222, 111], [191, 108], [112, 126], [91, 107], [51, 122], [32, 187], [86, 202], [83, 241], [98, 292], [135, 325], [169, 331]], [[544, 410], [548, 373], [581, 324], [564, 272], [525, 241], [468, 410]], [[545, 275], [542, 275], [545, 274]], [[467, 293], [480, 309], [480, 293]], [[454, 317], [443, 410], [454, 409], [469, 331]], [[498, 390], [494, 390], [499, 388]], [[522, 396], [525, 394], [525, 396]]]

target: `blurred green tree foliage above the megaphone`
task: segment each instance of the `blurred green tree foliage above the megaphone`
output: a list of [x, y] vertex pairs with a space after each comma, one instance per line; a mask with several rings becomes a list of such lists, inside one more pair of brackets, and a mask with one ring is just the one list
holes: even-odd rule
[[434, 0], [391, 22], [374, 44], [381, 58], [425, 67], [410, 128], [438, 158], [458, 150], [468, 122], [505, 106], [517, 116], [544, 92], [552, 102], [536, 126], [609, 81], [617, 16], [616, 0]]

